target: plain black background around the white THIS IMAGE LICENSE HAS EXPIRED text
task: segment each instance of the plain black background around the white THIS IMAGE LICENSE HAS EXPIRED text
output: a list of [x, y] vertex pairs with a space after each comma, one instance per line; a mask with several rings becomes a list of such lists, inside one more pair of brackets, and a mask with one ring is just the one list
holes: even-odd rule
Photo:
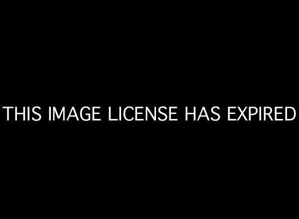
[[[269, 5], [123, 6], [9, 10], [1, 107], [179, 106], [180, 121], [2, 119], [5, 205], [285, 214], [296, 194], [298, 118], [228, 122], [226, 108], [298, 110], [295, 14]], [[186, 123], [185, 106], [219, 106], [221, 121]]]

